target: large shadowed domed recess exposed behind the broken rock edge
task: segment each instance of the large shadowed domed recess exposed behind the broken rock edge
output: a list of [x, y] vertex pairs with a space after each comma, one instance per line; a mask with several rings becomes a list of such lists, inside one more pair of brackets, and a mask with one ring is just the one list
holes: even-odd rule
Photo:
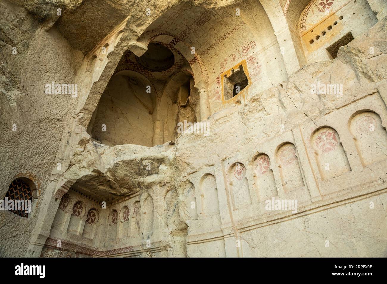
[[125, 51], [94, 111], [87, 132], [109, 145], [161, 145], [178, 136], [177, 122], [196, 122], [199, 92], [182, 53], [163, 42], [137, 56]]

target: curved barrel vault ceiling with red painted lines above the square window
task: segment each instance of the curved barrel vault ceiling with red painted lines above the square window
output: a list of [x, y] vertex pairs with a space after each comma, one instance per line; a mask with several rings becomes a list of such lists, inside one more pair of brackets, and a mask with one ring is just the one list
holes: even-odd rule
[[214, 81], [226, 69], [276, 41], [262, 5], [250, 0], [218, 9], [187, 3], [175, 6], [154, 20], [137, 41], [147, 46], [159, 37], [185, 56], [195, 82]]

